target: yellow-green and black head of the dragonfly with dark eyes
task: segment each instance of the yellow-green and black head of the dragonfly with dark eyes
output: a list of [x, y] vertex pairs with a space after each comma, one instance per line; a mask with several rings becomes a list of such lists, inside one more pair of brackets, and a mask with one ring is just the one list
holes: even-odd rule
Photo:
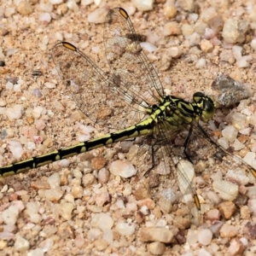
[[200, 119], [207, 122], [212, 119], [215, 112], [216, 102], [213, 101], [212, 97], [205, 96], [202, 92], [195, 92], [193, 100], [198, 108], [201, 109]]

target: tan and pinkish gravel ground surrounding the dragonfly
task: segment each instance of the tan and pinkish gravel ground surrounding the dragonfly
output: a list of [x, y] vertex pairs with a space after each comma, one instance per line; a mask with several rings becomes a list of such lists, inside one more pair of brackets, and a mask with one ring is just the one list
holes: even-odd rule
[[[147, 37], [142, 47], [172, 95], [214, 95], [221, 74], [249, 91], [224, 89], [225, 106], [208, 126], [222, 147], [256, 167], [256, 2], [230, 2], [2, 0], [0, 164], [108, 131], [76, 107], [50, 49], [68, 41], [108, 71], [103, 22], [109, 9], [122, 7]], [[2, 179], [0, 255], [255, 255], [253, 177], [234, 170], [200, 175], [197, 166], [202, 219], [195, 224], [183, 208], [164, 213], [145, 188], [134, 190], [136, 152], [133, 142], [117, 143]]]

